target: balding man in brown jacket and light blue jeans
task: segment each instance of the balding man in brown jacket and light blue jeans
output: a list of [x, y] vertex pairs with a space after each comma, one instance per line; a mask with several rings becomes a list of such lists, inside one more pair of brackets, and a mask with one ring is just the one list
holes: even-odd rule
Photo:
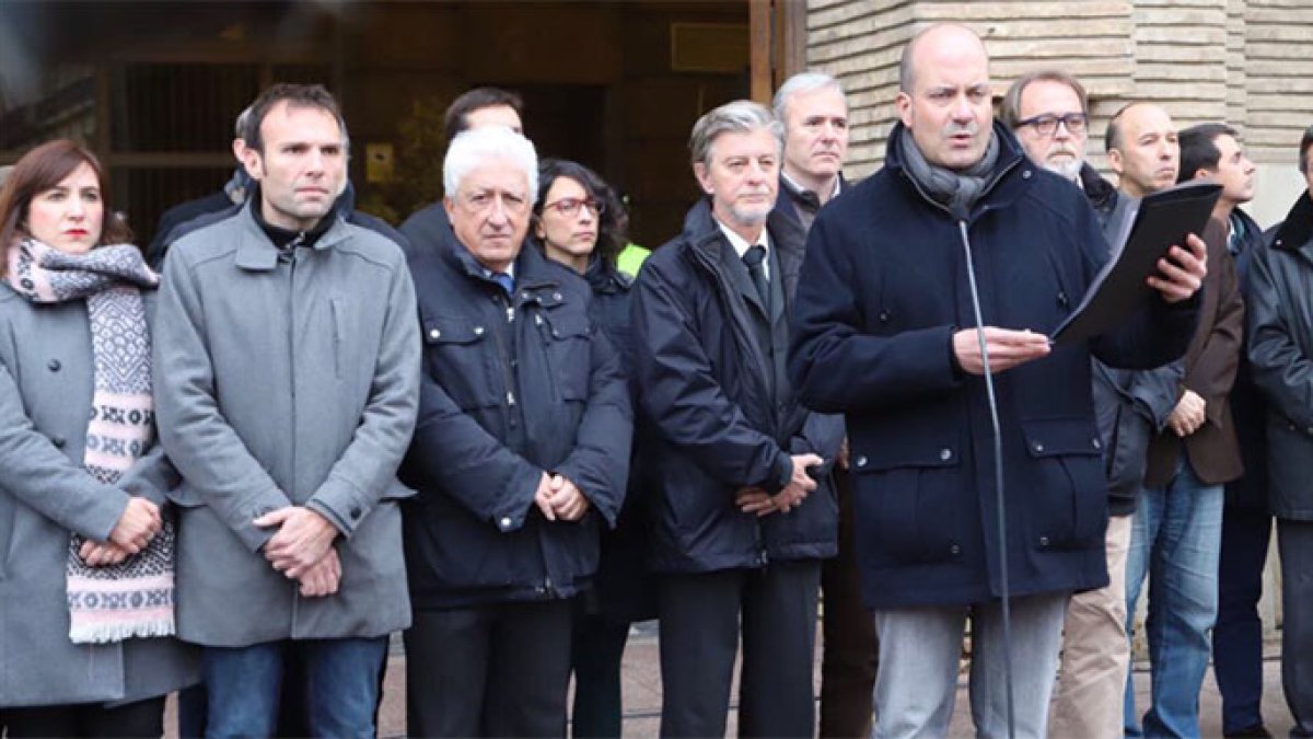
[[[1180, 167], [1180, 137], [1161, 107], [1128, 105], [1109, 130], [1108, 160], [1124, 193], [1144, 196], [1197, 175]], [[1173, 170], [1175, 178], [1169, 176]], [[1180, 362], [1183, 375], [1167, 427], [1149, 443], [1127, 561], [1128, 632], [1145, 576], [1153, 573], [1149, 623], [1154, 627], [1146, 632], [1153, 694], [1142, 718], [1142, 731], [1150, 736], [1199, 735], [1199, 690], [1217, 618], [1224, 485], [1243, 469], [1228, 402], [1239, 363], [1243, 305], [1222, 221], [1209, 221], [1201, 235], [1208, 243], [1208, 277], [1199, 323]], [[1175, 367], [1155, 372], [1176, 377]], [[1123, 721], [1128, 735], [1140, 734], [1129, 680]]]

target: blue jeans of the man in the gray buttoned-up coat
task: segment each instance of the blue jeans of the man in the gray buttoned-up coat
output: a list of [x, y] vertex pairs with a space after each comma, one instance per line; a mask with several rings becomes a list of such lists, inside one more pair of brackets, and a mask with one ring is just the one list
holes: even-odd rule
[[209, 710], [205, 735], [273, 736], [278, 725], [282, 663], [299, 651], [306, 680], [306, 725], [315, 736], [374, 736], [378, 671], [387, 638], [267, 642], [206, 647], [202, 659]]

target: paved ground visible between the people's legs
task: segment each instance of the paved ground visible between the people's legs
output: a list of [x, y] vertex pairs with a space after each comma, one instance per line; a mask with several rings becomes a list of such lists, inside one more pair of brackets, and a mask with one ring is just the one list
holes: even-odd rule
[[[1278, 661], [1278, 647], [1276, 643], [1271, 643], [1266, 650], [1267, 660], [1263, 665], [1266, 688], [1263, 693], [1263, 715], [1272, 734], [1285, 736], [1291, 728], [1291, 718], [1281, 697], [1281, 671]], [[817, 650], [817, 654], [819, 654], [819, 650]], [[379, 726], [381, 736], [403, 736], [406, 731], [404, 659], [399, 650], [394, 650], [390, 657], [387, 685], [383, 697], [383, 715]], [[1146, 669], [1148, 665], [1137, 665], [1134, 675], [1136, 696], [1141, 706], [1149, 701], [1149, 673]], [[660, 671], [658, 665], [656, 636], [654, 630], [647, 627], [647, 625], [635, 630], [629, 640], [629, 647], [625, 651], [622, 679], [625, 736], [656, 736], [660, 717]], [[1221, 736], [1221, 698], [1217, 694], [1217, 685], [1213, 682], [1211, 671], [1200, 696], [1200, 731], [1205, 738]], [[731, 713], [727, 735], [733, 736], [735, 734], [735, 722]], [[966, 701], [965, 682], [958, 685], [957, 703], [949, 736], [955, 739], [974, 736], [970, 726], [970, 707]]]

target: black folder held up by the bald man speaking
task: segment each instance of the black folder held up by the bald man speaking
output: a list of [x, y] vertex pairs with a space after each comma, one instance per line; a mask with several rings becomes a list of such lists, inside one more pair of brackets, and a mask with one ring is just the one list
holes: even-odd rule
[[[1186, 249], [1187, 234], [1200, 234], [1222, 193], [1220, 184], [1183, 183], [1146, 195], [1125, 208], [1111, 233], [1117, 234], [1112, 256], [1094, 277], [1081, 304], [1053, 331], [1054, 343], [1096, 337], [1125, 321], [1158, 291], [1145, 280], [1158, 271], [1158, 259], [1174, 245]], [[1123, 195], [1121, 197], [1127, 197]]]

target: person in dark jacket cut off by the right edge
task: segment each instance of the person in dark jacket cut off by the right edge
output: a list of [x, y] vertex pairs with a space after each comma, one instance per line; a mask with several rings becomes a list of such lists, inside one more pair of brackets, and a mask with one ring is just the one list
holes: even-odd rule
[[1291, 736], [1313, 736], [1313, 126], [1300, 141], [1309, 191], [1250, 260], [1249, 362], [1267, 398], [1268, 501], [1281, 555], [1281, 688]]

